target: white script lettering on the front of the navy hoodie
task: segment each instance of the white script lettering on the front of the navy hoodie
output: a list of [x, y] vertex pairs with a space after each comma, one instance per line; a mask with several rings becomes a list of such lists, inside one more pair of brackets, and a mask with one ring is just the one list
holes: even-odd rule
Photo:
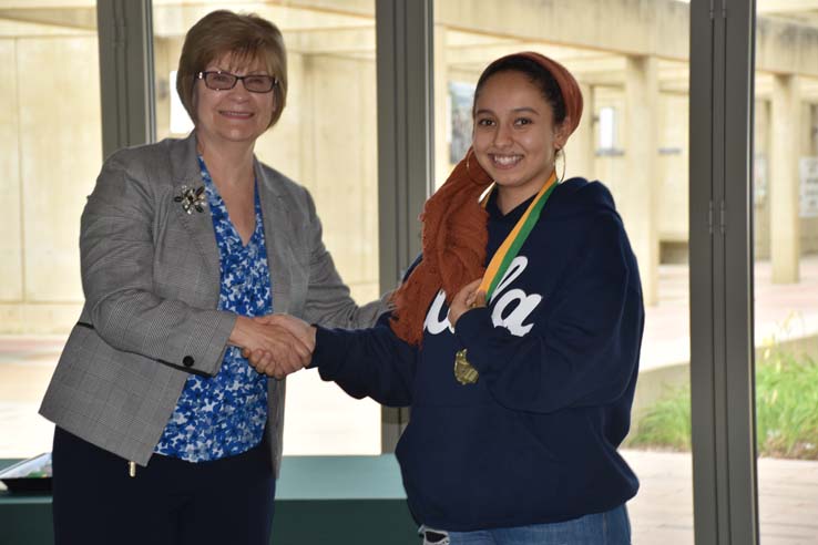
[[[505, 291], [517, 277], [525, 270], [528, 265], [529, 259], [525, 256], [517, 256], [514, 260], [511, 261], [511, 265], [509, 265], [508, 270], [503, 275], [502, 280], [500, 280], [500, 284], [498, 284], [498, 287], [491, 297], [492, 302], [497, 300], [497, 304], [494, 304], [494, 308], [491, 311], [492, 323], [494, 323], [495, 327], [504, 327], [511, 332], [511, 335], [517, 337], [522, 337], [534, 327], [533, 323], [524, 322], [542, 300], [541, 295], [529, 295], [519, 288]], [[443, 311], [444, 305], [446, 294], [443, 290], [440, 290], [438, 291], [438, 296], [434, 298], [431, 308], [429, 308], [429, 312], [426, 315], [426, 322], [423, 323], [423, 327], [431, 335], [440, 335], [447, 329], [450, 332], [454, 332], [451, 323], [449, 323], [449, 318], [447, 316], [448, 311]], [[513, 309], [505, 318], [503, 318], [505, 309], [510, 308], [510, 306], [513, 307]]]

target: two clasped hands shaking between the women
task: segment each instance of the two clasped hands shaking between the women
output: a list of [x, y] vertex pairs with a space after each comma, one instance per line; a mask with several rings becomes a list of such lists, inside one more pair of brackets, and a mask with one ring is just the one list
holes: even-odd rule
[[242, 349], [256, 371], [280, 380], [309, 364], [315, 327], [289, 315], [239, 316], [231, 345]]

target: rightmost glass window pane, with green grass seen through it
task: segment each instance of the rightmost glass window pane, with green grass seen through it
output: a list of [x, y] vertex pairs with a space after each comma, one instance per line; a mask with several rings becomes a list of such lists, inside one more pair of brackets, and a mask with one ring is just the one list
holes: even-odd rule
[[818, 526], [818, 2], [757, 2], [756, 434], [761, 543]]

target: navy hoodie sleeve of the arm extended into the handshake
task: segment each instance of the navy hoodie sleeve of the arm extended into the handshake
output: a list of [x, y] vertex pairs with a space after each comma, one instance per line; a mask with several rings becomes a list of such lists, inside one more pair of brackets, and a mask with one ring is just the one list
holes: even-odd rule
[[371, 329], [317, 327], [310, 367], [349, 395], [370, 397], [388, 407], [411, 404], [417, 349], [395, 336], [390, 313]]

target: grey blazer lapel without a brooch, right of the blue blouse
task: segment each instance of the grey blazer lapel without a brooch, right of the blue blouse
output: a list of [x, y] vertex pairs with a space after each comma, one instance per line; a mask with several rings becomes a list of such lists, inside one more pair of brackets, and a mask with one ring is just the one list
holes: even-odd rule
[[290, 287], [293, 285], [293, 265], [296, 256], [289, 244], [287, 229], [293, 225], [290, 212], [284, 205], [275, 184], [269, 179], [258, 161], [255, 161], [258, 197], [262, 200], [264, 215], [264, 244], [267, 246], [267, 267], [273, 289], [273, 311], [288, 312], [290, 305]]

